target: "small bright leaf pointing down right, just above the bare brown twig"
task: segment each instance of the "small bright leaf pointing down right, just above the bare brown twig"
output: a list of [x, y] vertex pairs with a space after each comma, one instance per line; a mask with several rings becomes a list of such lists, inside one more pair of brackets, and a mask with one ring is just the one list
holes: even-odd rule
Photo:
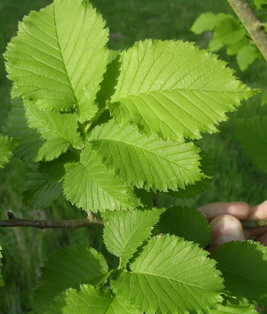
[[106, 170], [89, 143], [82, 150], [81, 165], [66, 172], [63, 188], [66, 198], [85, 211], [132, 208], [127, 187]]

